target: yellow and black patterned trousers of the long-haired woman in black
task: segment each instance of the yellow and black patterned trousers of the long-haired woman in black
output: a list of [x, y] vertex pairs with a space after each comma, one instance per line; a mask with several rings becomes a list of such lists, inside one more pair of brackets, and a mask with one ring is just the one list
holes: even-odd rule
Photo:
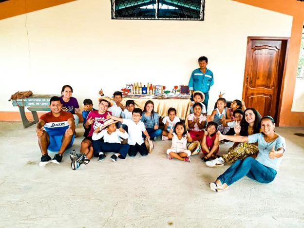
[[222, 155], [222, 157], [225, 163], [233, 163], [236, 160], [243, 160], [253, 154], [257, 154], [258, 152], [259, 149], [254, 144], [242, 142], [237, 146], [230, 147], [228, 153]]

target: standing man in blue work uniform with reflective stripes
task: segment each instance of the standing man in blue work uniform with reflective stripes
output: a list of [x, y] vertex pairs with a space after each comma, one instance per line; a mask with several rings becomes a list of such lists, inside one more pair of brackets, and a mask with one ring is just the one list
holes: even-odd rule
[[208, 109], [208, 100], [209, 100], [209, 90], [213, 85], [213, 73], [209, 69], [207, 69], [208, 58], [205, 56], [198, 58], [199, 68], [195, 69], [189, 80], [189, 90], [191, 95], [193, 95], [193, 91], [199, 90], [204, 93], [205, 100], [204, 104], [206, 106], [206, 110]]

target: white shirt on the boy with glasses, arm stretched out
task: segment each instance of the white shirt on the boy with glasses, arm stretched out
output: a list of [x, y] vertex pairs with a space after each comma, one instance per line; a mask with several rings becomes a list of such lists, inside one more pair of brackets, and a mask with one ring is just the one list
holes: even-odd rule
[[122, 119], [122, 123], [128, 126], [129, 138], [128, 144], [134, 146], [136, 143], [144, 143], [142, 133], [146, 131], [145, 124], [139, 121], [137, 124], [132, 119]]

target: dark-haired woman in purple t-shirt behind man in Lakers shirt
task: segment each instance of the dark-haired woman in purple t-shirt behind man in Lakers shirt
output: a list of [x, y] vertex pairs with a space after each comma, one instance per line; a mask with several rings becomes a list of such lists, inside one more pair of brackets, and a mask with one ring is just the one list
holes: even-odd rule
[[75, 125], [77, 127], [79, 123], [79, 117], [76, 113], [81, 114], [79, 110], [78, 101], [75, 97], [72, 96], [73, 88], [69, 85], [62, 86], [61, 95], [59, 99], [62, 103], [62, 111], [73, 114], [75, 119]]

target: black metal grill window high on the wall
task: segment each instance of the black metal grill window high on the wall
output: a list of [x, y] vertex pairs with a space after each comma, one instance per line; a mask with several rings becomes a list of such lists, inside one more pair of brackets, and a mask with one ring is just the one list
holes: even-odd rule
[[205, 0], [111, 0], [112, 19], [204, 20]]

